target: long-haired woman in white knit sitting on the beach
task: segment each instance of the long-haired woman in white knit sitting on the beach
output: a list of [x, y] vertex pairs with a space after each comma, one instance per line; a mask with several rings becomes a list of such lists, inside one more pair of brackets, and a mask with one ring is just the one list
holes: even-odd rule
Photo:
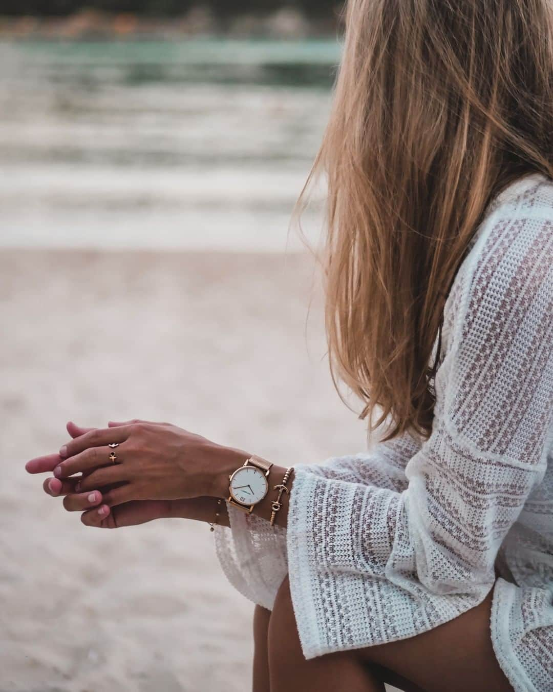
[[86, 525], [216, 520], [255, 692], [553, 690], [552, 12], [348, 4], [314, 172], [372, 453], [292, 471], [130, 421], [28, 462]]

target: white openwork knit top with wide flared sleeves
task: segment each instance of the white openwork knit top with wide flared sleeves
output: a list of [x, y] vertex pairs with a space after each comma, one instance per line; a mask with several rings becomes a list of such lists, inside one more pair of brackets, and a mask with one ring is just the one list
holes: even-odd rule
[[[285, 574], [303, 654], [403, 639], [493, 589], [518, 691], [553, 690], [553, 182], [491, 201], [444, 307], [435, 417], [368, 453], [299, 464], [288, 529], [229, 506], [229, 581], [272, 608]], [[496, 576], [496, 570], [499, 576]]]

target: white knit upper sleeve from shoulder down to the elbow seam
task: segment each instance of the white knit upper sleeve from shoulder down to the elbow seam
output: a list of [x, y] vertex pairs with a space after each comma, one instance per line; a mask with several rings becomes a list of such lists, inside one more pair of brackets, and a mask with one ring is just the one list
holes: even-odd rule
[[451, 426], [518, 459], [538, 452], [553, 405], [553, 183], [532, 178], [485, 218], [444, 316]]

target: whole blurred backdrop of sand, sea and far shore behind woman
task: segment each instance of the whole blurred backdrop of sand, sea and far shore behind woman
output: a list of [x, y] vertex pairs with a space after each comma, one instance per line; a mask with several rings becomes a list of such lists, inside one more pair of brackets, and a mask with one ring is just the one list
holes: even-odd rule
[[[24, 462], [167, 420], [282, 465], [366, 446], [290, 213], [339, 7], [0, 2], [0, 690], [250, 689], [207, 525], [101, 531]], [[317, 239], [320, 223], [306, 233]]]

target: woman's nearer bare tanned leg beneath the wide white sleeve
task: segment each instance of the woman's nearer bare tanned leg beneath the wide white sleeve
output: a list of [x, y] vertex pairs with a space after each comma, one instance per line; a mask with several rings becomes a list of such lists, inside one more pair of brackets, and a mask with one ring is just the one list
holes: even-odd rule
[[476, 608], [409, 639], [331, 653], [306, 661], [297, 633], [288, 577], [269, 623], [272, 692], [513, 692], [489, 637], [491, 594]]

